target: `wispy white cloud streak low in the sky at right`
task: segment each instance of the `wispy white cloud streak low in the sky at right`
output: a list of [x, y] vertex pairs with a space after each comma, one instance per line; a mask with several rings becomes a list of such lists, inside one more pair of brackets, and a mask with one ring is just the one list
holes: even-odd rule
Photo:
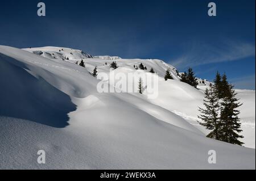
[[222, 41], [218, 44], [193, 42], [186, 46], [184, 54], [170, 63], [180, 66], [198, 66], [218, 62], [235, 61], [255, 56], [255, 43], [242, 41]]

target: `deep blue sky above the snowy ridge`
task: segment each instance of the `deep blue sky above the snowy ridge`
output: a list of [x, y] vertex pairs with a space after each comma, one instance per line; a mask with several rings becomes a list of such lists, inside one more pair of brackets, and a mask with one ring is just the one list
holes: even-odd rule
[[209, 80], [225, 72], [237, 88], [255, 89], [254, 0], [47, 0], [45, 17], [37, 16], [38, 2], [1, 1], [1, 45], [159, 58]]

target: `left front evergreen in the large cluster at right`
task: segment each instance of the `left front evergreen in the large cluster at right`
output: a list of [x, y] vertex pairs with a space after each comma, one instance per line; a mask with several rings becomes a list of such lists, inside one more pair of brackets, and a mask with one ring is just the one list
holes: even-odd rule
[[209, 89], [205, 90], [205, 109], [199, 107], [201, 115], [198, 116], [201, 120], [203, 120], [203, 123], [198, 122], [200, 125], [203, 125], [206, 129], [211, 131], [207, 137], [220, 140], [220, 119], [218, 116], [220, 112], [220, 104], [214, 89], [214, 86], [210, 86]]

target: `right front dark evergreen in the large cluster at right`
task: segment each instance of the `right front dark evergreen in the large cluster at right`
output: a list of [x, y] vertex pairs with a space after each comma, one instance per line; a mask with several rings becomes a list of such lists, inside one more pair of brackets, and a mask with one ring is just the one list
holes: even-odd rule
[[[222, 87], [223, 88], [223, 87]], [[232, 85], [226, 87], [225, 96], [221, 102], [221, 140], [229, 142], [230, 144], [242, 145], [243, 142], [239, 138], [241, 130], [241, 123], [238, 117], [240, 111], [237, 110], [242, 104], [236, 98], [237, 93], [233, 90]]]

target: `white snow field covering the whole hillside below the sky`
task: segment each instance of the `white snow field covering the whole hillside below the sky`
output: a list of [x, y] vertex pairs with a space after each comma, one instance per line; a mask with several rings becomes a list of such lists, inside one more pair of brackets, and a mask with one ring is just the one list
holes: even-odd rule
[[[85, 61], [86, 68], [76, 65]], [[92, 73], [159, 74], [159, 95], [99, 93]], [[105, 65], [107, 62], [108, 65]], [[167, 68], [174, 80], [164, 81]], [[146, 73], [149, 74], [149, 73]], [[106, 84], [110, 84], [106, 81]], [[245, 147], [205, 137], [204, 90], [161, 60], [97, 56], [70, 48], [0, 46], [0, 169], [255, 169], [255, 91], [236, 90]], [[38, 164], [38, 150], [46, 164]], [[215, 150], [217, 163], [208, 163]]]

